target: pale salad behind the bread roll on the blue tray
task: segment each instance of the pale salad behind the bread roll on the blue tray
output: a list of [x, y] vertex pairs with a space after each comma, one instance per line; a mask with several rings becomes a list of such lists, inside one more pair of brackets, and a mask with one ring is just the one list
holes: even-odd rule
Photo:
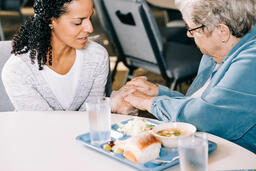
[[119, 123], [118, 126], [118, 131], [126, 135], [134, 136], [142, 132], [152, 130], [155, 125], [148, 122], [146, 119], [135, 117], [133, 120], [128, 121], [126, 124]]

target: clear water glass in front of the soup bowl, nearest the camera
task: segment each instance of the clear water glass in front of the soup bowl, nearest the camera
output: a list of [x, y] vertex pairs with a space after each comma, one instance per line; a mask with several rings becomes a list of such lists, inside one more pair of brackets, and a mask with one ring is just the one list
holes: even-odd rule
[[208, 170], [207, 133], [197, 132], [178, 140], [181, 171]]

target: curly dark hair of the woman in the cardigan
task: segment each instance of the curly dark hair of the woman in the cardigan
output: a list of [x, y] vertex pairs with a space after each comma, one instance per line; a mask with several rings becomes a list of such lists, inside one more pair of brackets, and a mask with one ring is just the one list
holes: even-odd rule
[[72, 0], [36, 0], [35, 15], [28, 18], [13, 37], [12, 54], [30, 53], [32, 64], [37, 59], [39, 70], [47, 62], [52, 65], [51, 24], [52, 18], [59, 18], [67, 12], [66, 4]]

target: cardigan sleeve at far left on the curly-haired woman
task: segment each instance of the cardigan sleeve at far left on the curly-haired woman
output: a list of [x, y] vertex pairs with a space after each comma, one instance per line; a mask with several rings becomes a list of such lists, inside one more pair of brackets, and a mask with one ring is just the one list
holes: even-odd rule
[[2, 81], [16, 111], [53, 110], [33, 86], [31, 71], [16, 56], [5, 64]]

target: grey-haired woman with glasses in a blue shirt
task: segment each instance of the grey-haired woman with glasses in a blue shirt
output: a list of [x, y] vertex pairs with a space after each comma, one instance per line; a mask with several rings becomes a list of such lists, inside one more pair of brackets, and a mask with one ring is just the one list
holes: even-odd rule
[[255, 0], [180, 0], [187, 35], [204, 54], [186, 96], [135, 78], [126, 102], [160, 120], [194, 124], [256, 153]]

